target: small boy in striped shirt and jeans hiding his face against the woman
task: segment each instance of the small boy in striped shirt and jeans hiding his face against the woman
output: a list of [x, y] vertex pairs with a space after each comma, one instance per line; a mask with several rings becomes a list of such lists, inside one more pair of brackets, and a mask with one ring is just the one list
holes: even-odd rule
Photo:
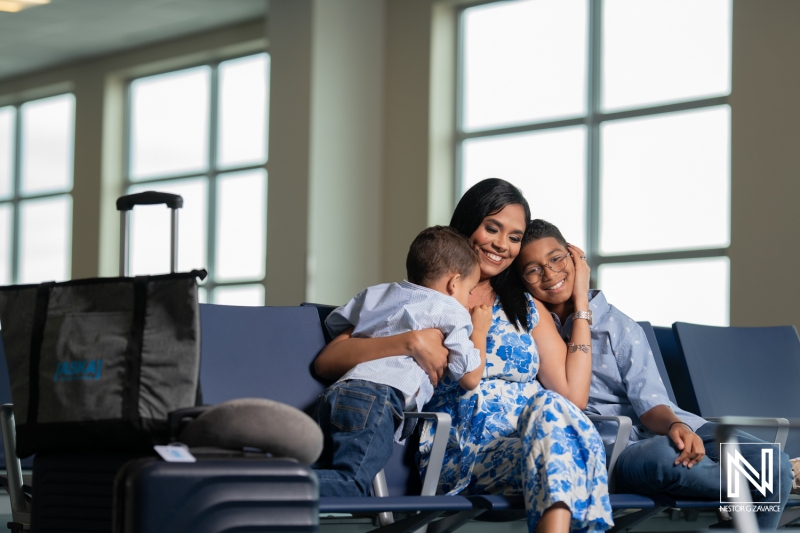
[[[408, 251], [408, 281], [369, 287], [325, 321], [333, 336], [387, 337], [436, 328], [450, 350], [448, 372], [465, 389], [480, 382], [492, 311], [467, 311], [478, 284], [478, 256], [449, 227], [423, 230]], [[365, 496], [372, 480], [413, 426], [402, 428], [404, 411], [419, 411], [433, 395], [428, 374], [411, 356], [361, 363], [320, 396], [315, 418], [325, 435], [314, 466], [320, 496]], [[402, 430], [402, 431], [401, 431]], [[393, 438], [394, 437], [394, 438]]]

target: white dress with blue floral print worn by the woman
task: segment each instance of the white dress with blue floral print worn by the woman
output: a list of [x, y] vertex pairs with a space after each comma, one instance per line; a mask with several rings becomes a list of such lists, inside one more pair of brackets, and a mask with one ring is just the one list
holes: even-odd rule
[[[535, 327], [539, 314], [530, 296], [528, 309]], [[480, 386], [465, 391], [445, 378], [425, 407], [453, 419], [439, 493], [522, 494], [531, 532], [545, 510], [563, 502], [573, 531], [605, 531], [614, 522], [600, 435], [575, 405], [536, 381], [536, 343], [514, 329], [499, 299], [492, 315]], [[433, 430], [431, 422], [423, 426], [423, 475]]]

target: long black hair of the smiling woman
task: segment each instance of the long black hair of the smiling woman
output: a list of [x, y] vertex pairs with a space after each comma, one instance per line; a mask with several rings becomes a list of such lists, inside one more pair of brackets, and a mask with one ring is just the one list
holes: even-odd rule
[[[521, 205], [525, 211], [525, 222], [531, 219], [531, 208], [519, 189], [505, 180], [489, 178], [479, 181], [469, 188], [458, 201], [450, 226], [469, 238], [480, 227], [483, 219], [503, 210], [507, 205]], [[507, 268], [489, 280], [492, 289], [500, 298], [508, 320], [519, 329], [526, 330], [528, 324], [528, 302], [525, 299], [525, 287], [519, 276]]]

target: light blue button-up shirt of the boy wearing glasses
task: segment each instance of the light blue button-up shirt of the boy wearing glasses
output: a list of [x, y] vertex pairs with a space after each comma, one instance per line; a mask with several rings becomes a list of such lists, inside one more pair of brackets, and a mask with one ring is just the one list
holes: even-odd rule
[[[706, 423], [699, 416], [673, 404], [653, 359], [644, 330], [633, 319], [606, 301], [602, 291], [589, 291], [592, 311], [592, 384], [586, 412], [597, 415], [628, 416], [633, 430], [628, 444], [655, 435], [639, 417], [657, 405], [666, 405], [693, 431]], [[572, 334], [570, 315], [562, 325], [551, 313], [565, 341]], [[603, 442], [613, 442], [616, 424], [598, 423]]]

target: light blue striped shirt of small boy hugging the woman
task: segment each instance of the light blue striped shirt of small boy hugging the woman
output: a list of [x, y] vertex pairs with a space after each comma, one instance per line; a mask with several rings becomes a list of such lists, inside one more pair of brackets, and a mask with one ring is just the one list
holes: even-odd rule
[[[480, 352], [470, 340], [472, 319], [469, 311], [452, 296], [408, 281], [368, 287], [334, 310], [325, 320], [332, 336], [354, 327], [353, 337], [389, 337], [413, 330], [435, 328], [444, 335], [450, 350], [447, 368], [458, 380], [480, 365]], [[428, 374], [413, 357], [401, 355], [361, 363], [339, 381], [363, 379], [400, 390], [408, 401], [415, 399], [417, 410], [433, 396]]]

